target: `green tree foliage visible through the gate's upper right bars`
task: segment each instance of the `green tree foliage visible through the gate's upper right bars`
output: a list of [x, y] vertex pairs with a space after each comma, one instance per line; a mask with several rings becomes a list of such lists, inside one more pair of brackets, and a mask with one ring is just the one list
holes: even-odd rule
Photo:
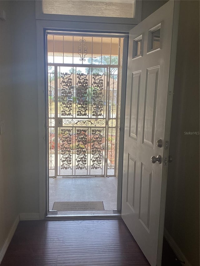
[[[102, 75], [102, 74], [105, 74], [106, 75], [106, 69], [103, 67], [103, 65], [118, 65], [118, 56], [99, 56], [97, 58], [92, 58], [89, 57], [88, 58], [88, 63], [89, 64], [96, 64], [96, 65], [100, 65], [101, 67], [95, 67], [93, 68], [93, 74], [99, 74], [99, 75]], [[116, 72], [117, 68], [116, 67], [112, 67], [110, 68], [110, 76], [111, 77], [114, 77], [114, 73]], [[85, 71], [86, 73], [88, 74], [92, 74], [92, 69], [89, 68], [89, 67], [86, 67], [85, 68]], [[90, 72], [90, 73], [89, 73]]]

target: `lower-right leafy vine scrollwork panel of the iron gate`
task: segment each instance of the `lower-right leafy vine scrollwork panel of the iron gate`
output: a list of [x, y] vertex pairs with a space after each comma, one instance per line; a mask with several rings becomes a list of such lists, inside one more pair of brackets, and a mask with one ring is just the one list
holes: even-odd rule
[[93, 162], [91, 165], [91, 169], [102, 169], [102, 142], [103, 142], [103, 129], [92, 129], [92, 138], [91, 138], [91, 153]]

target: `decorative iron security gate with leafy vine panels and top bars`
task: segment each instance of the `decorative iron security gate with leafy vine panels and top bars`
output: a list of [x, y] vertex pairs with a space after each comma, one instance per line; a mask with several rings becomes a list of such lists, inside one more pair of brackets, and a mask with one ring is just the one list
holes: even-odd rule
[[[48, 37], [51, 40], [52, 35], [47, 40]], [[93, 53], [92, 59], [85, 58], [88, 54], [85, 37], [78, 38], [77, 53], [73, 51], [71, 57], [68, 54], [69, 61], [73, 58], [76, 63], [64, 63], [64, 52], [63, 57], [59, 51], [55, 53], [55, 41], [53, 54], [47, 49], [49, 176], [115, 175], [118, 56], [117, 64], [112, 65], [110, 49], [109, 64], [103, 61], [106, 58], [108, 63], [102, 53], [101, 64], [94, 64], [92, 61], [97, 59], [93, 59]], [[106, 38], [99, 39], [103, 46], [102, 39]], [[108, 39], [112, 45], [112, 38]], [[62, 57], [62, 63], [58, 57]]]

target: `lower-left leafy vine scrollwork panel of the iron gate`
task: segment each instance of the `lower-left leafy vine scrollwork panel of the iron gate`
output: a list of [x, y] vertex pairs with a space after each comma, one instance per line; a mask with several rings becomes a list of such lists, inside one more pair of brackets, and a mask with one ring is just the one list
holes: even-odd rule
[[61, 129], [61, 169], [72, 169], [72, 129]]

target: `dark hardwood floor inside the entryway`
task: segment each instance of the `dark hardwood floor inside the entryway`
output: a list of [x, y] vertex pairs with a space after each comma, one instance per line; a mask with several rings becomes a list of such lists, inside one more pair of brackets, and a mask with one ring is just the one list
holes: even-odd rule
[[[164, 253], [165, 261], [162, 265], [180, 265], [173, 264], [175, 258], [169, 255], [168, 247], [166, 250], [168, 254]], [[33, 265], [150, 264], [121, 219], [20, 221], [1, 266]]]

